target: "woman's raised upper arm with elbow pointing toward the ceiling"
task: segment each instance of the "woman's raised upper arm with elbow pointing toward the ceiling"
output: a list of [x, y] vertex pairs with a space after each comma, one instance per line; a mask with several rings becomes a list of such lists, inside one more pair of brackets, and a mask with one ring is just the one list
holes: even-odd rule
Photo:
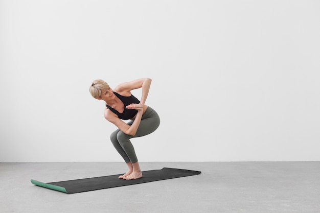
[[150, 78], [136, 79], [136, 80], [133, 80], [130, 82], [125, 82], [125, 83], [118, 85], [114, 89], [114, 91], [116, 91], [120, 94], [130, 96], [131, 90], [142, 88], [142, 95], [141, 95], [140, 104], [144, 105], [147, 100], [148, 94], [149, 94], [151, 81], [152, 80]]

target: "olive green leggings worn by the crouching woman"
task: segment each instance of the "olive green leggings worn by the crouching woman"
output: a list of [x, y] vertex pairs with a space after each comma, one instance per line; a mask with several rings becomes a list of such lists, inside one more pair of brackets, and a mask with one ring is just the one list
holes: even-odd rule
[[[132, 125], [132, 123], [133, 121], [130, 121], [127, 124]], [[126, 163], [138, 162], [138, 158], [136, 158], [130, 138], [148, 135], [154, 132], [158, 128], [159, 124], [159, 115], [148, 106], [147, 110], [142, 115], [140, 125], [134, 136], [127, 135], [120, 129], [117, 129], [110, 135], [111, 142]]]

